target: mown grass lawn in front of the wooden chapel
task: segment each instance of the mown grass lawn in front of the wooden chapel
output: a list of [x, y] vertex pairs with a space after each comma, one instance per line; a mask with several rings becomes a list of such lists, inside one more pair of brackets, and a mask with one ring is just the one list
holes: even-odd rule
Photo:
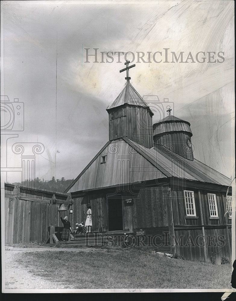
[[231, 265], [160, 257], [150, 248], [106, 247], [88, 252], [21, 254], [20, 265], [61, 288], [227, 288]]

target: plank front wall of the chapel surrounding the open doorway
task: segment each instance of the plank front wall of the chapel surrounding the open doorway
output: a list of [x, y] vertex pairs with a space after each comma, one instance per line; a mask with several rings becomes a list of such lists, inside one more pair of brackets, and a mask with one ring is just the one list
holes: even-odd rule
[[168, 213], [166, 203], [163, 202], [163, 187], [131, 189], [131, 191], [103, 191], [99, 194], [85, 195], [74, 198], [74, 225], [76, 222], [85, 222], [87, 207], [92, 207], [93, 232], [106, 232], [108, 228], [108, 208], [106, 199], [110, 195], [119, 194], [125, 198], [132, 197], [134, 204], [124, 206], [124, 229], [133, 231], [133, 228], [168, 227]]

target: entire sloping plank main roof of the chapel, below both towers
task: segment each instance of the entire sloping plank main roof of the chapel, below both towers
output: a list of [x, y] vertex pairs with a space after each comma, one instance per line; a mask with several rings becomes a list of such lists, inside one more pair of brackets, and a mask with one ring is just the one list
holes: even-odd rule
[[[104, 154], [107, 161], [101, 164]], [[128, 156], [131, 167], [126, 172], [124, 166], [118, 164], [119, 158], [124, 155]], [[231, 183], [231, 179], [196, 159], [190, 161], [178, 154], [170, 154], [169, 149], [159, 144], [149, 149], [123, 137], [108, 141], [65, 192], [96, 190], [171, 177], [224, 186]]]

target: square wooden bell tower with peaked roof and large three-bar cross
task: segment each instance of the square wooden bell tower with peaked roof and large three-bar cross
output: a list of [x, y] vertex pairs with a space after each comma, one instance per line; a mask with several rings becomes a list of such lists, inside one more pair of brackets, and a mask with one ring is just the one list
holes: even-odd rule
[[154, 114], [129, 81], [128, 70], [134, 66], [127, 66], [120, 71], [127, 71], [125, 78], [127, 82], [118, 97], [106, 109], [109, 114], [109, 140], [127, 137], [140, 145], [151, 148], [153, 147], [152, 116]]

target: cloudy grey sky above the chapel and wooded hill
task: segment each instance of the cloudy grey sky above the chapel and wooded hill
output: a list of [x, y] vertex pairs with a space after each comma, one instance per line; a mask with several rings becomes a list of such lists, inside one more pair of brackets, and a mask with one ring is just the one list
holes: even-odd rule
[[[41, 179], [76, 178], [105, 145], [106, 108], [126, 82], [119, 73], [125, 57], [115, 51], [134, 53], [131, 84], [153, 110], [153, 123], [167, 115], [156, 100], [168, 98], [171, 113], [191, 124], [194, 157], [234, 174], [233, 1], [2, 1], [1, 45], [1, 95], [21, 103], [12, 130], [2, 130], [7, 116], [1, 122], [6, 181], [20, 181], [24, 158], [35, 161]], [[86, 48], [98, 48], [98, 62], [86, 62]], [[113, 62], [106, 62], [109, 51]], [[157, 51], [162, 62], [149, 62], [148, 52], [153, 58]], [[194, 62], [171, 63], [171, 51], [182, 51], [183, 61], [191, 52]], [[200, 51], [203, 63], [196, 61]], [[209, 51], [218, 62], [209, 62]], [[37, 143], [39, 154], [32, 153]]]

